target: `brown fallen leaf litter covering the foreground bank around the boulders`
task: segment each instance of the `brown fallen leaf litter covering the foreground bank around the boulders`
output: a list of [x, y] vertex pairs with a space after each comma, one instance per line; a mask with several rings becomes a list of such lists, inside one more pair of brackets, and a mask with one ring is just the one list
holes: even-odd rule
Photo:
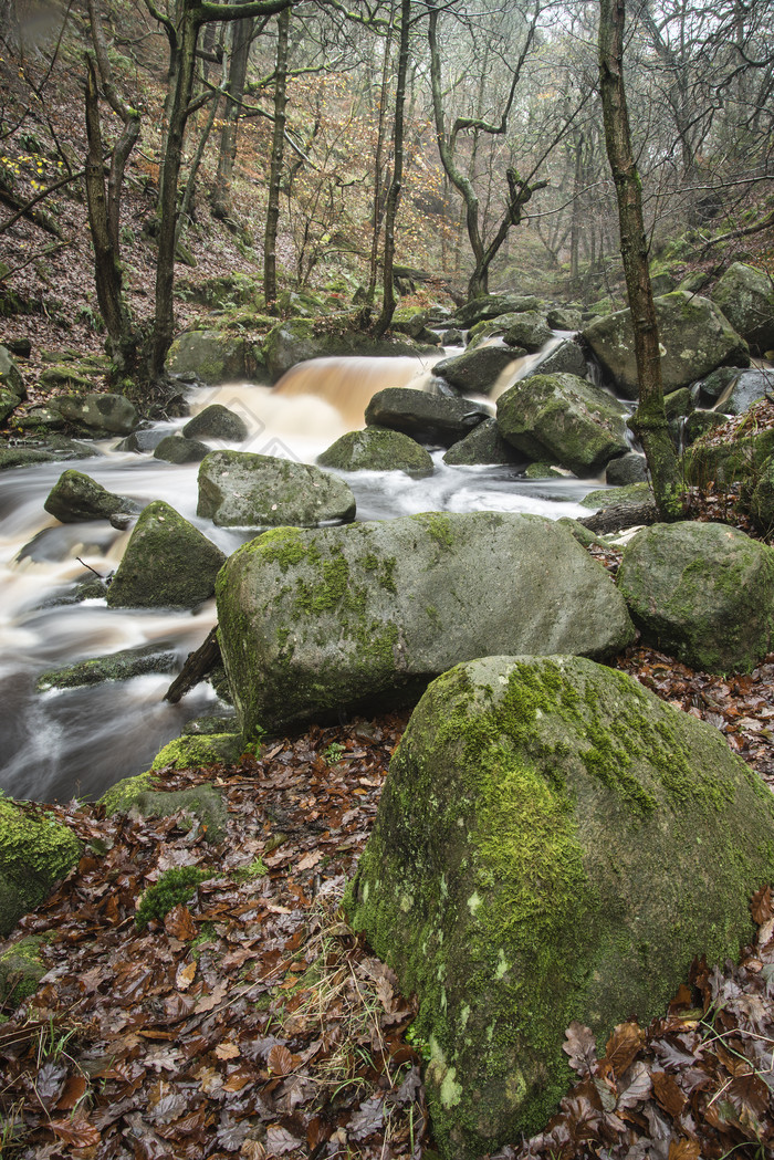
[[[617, 666], [695, 716], [717, 713], [771, 776], [768, 739], [744, 722], [768, 719], [774, 657], [725, 681], [637, 647]], [[14, 931], [43, 936], [48, 973], [0, 1025], [3, 1157], [435, 1155], [406, 1039], [415, 1000], [340, 909], [406, 719], [314, 726], [233, 766], [161, 771], [166, 790], [215, 783], [229, 814], [219, 846], [185, 813], [46, 807], [86, 849]], [[139, 931], [143, 892], [179, 867], [211, 876]], [[571, 1024], [576, 1086], [497, 1160], [774, 1155], [769, 887], [751, 909], [758, 936], [739, 964], [694, 962], [650, 1027], [616, 1027], [602, 1051]]]

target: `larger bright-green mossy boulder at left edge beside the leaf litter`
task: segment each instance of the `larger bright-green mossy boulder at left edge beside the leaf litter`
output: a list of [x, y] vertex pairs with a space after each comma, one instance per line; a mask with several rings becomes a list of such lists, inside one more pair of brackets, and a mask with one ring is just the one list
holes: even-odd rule
[[53, 818], [0, 798], [0, 937], [78, 862], [82, 846]]

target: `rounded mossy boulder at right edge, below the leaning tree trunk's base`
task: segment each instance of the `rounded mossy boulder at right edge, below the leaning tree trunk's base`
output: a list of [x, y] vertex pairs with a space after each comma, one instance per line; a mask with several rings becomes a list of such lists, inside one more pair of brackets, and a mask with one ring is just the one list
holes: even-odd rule
[[736, 528], [643, 528], [617, 585], [643, 639], [694, 668], [750, 672], [772, 647], [774, 550]]

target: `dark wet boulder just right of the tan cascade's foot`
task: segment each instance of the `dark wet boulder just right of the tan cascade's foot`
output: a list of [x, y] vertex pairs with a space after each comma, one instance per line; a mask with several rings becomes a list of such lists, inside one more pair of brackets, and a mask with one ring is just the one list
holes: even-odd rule
[[388, 386], [377, 391], [366, 407], [369, 426], [390, 427], [411, 435], [419, 443], [451, 447], [464, 438], [489, 411], [466, 399], [429, 394], [408, 386]]

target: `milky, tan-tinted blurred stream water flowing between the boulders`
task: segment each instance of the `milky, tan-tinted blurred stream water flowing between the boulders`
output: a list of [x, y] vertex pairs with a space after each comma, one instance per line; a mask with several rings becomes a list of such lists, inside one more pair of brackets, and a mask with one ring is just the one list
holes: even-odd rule
[[[197, 389], [189, 404], [191, 412], [220, 403], [239, 413], [251, 433], [240, 450], [311, 463], [339, 435], [363, 425], [364, 406], [376, 391], [406, 385], [432, 390], [433, 361], [418, 369], [410, 358], [314, 360], [294, 368], [274, 389]], [[515, 361], [508, 368], [511, 380], [522, 369]], [[185, 422], [165, 427], [174, 430]], [[448, 467], [441, 457], [441, 451], [434, 455], [435, 472], [428, 479], [400, 472], [348, 476], [357, 519], [431, 510], [587, 515], [578, 501], [598, 486], [593, 480], [518, 479], [509, 467]], [[187, 719], [218, 708], [209, 684], [179, 705], [165, 702], [173, 673], [35, 691], [46, 669], [137, 645], [171, 644], [182, 662], [216, 619], [214, 601], [194, 612], [114, 610], [103, 600], [66, 603], [75, 583], [91, 575], [88, 568], [106, 577], [117, 567], [129, 538], [107, 522], [60, 524], [48, 515], [43, 503], [66, 466], [121, 495], [166, 500], [226, 553], [246, 538], [197, 517], [196, 464], [173, 465], [100, 443], [89, 459], [0, 474], [0, 786], [37, 800], [99, 796], [118, 778], [146, 769]]]

